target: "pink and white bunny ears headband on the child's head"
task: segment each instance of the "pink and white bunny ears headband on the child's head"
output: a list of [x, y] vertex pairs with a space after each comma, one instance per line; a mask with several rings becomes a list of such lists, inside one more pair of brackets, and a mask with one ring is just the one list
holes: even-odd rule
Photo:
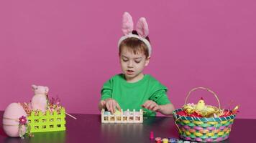
[[121, 42], [124, 41], [124, 39], [134, 37], [134, 38], [140, 39], [146, 44], [148, 48], [148, 53], [150, 56], [152, 52], [151, 45], [150, 45], [150, 42], [147, 41], [147, 39], [145, 39], [149, 34], [149, 29], [147, 26], [146, 19], [144, 17], [141, 17], [137, 22], [136, 31], [138, 35], [132, 34], [132, 30], [133, 30], [132, 16], [128, 12], [124, 12], [123, 20], [122, 20], [122, 31], [124, 33], [124, 36], [122, 36], [119, 39], [118, 47], [120, 46]]

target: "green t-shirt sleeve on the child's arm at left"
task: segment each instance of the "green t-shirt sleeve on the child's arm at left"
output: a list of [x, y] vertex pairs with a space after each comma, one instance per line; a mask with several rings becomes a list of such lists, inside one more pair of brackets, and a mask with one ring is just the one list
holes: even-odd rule
[[112, 95], [112, 79], [104, 83], [101, 89], [101, 100], [111, 98]]

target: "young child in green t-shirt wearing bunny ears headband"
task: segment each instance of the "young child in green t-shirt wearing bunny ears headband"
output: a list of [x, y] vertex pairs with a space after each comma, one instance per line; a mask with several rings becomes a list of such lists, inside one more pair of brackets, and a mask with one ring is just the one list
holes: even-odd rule
[[133, 30], [132, 16], [127, 12], [122, 23], [124, 36], [118, 43], [122, 74], [104, 83], [99, 110], [107, 109], [113, 114], [116, 109], [144, 109], [145, 116], [155, 116], [156, 112], [172, 114], [174, 107], [166, 95], [168, 89], [149, 74], [143, 74], [152, 52], [146, 19], [140, 18], [137, 31]]

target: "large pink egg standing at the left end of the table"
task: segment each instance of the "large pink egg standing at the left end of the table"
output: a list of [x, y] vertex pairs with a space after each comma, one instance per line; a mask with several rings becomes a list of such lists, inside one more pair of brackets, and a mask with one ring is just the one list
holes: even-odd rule
[[6, 107], [3, 116], [3, 128], [9, 137], [19, 137], [19, 118], [22, 116], [27, 117], [27, 113], [20, 104], [12, 103]]

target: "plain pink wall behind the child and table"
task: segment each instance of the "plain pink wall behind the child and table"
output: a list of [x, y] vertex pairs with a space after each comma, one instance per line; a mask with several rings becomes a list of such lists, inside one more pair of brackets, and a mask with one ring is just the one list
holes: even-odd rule
[[[0, 110], [50, 87], [70, 113], [99, 114], [101, 86], [120, 72], [124, 11], [150, 26], [152, 74], [181, 107], [209, 87], [222, 107], [256, 119], [255, 1], [0, 1]], [[208, 92], [193, 92], [216, 104]]]

